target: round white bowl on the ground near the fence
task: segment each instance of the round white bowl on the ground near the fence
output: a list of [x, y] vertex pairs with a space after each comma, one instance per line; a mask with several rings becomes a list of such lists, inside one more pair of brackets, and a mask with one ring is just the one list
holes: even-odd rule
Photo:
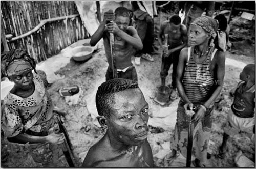
[[72, 49], [72, 58], [75, 61], [86, 61], [92, 57], [93, 47], [77, 46]]

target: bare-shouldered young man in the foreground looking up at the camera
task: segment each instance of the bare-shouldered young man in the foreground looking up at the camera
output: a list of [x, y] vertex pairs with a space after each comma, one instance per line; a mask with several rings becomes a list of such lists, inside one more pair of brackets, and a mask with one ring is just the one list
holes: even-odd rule
[[82, 167], [154, 167], [146, 139], [148, 104], [138, 83], [119, 78], [102, 83], [96, 107], [106, 133], [89, 149]]

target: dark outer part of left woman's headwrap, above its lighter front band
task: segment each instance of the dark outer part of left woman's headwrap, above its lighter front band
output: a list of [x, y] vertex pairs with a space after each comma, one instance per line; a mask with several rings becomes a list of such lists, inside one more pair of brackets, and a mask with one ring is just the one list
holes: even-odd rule
[[24, 60], [29, 62], [32, 69], [34, 69], [34, 71], [36, 72], [35, 60], [32, 57], [30, 57], [27, 51], [19, 50], [19, 49], [11, 49], [11, 51], [1, 53], [1, 74], [8, 77], [6, 70], [14, 60]]

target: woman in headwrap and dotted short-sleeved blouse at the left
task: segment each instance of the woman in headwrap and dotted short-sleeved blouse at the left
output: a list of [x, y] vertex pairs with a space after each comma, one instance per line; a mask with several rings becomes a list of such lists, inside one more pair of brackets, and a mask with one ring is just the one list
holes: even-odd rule
[[17, 49], [1, 53], [1, 71], [14, 82], [1, 107], [4, 136], [10, 142], [29, 143], [38, 166], [72, 166], [71, 144], [62, 125], [64, 117], [53, 111], [44, 72], [36, 71], [34, 59]]

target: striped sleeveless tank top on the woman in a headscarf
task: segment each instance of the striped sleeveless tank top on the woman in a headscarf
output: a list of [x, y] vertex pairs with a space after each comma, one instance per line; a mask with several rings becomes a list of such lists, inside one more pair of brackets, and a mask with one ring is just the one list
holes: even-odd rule
[[[194, 47], [188, 48], [187, 66], [183, 76], [183, 87], [189, 101], [194, 105], [204, 104], [214, 92], [215, 80], [210, 71], [211, 61], [217, 49], [210, 50], [202, 64], [194, 59]], [[190, 57], [192, 54], [193, 57]]]

